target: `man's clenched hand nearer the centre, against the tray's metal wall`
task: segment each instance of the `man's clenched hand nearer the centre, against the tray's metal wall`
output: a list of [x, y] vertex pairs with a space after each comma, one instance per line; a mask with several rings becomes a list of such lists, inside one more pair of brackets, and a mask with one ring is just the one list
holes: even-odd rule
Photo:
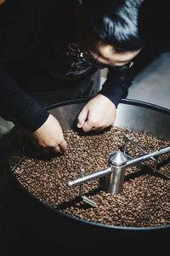
[[82, 131], [100, 131], [114, 124], [116, 106], [106, 96], [94, 96], [82, 108], [77, 118], [77, 127]]

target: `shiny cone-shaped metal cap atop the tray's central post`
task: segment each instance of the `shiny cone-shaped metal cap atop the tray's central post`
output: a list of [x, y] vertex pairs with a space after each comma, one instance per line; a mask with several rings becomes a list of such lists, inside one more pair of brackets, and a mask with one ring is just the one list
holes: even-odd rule
[[109, 161], [113, 166], [124, 166], [127, 163], [127, 156], [119, 150], [110, 154]]

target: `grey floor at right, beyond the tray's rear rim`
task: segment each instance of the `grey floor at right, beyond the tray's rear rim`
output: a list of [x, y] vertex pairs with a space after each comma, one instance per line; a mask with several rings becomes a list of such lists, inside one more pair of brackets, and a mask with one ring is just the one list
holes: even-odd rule
[[170, 109], [170, 52], [158, 55], [139, 72], [127, 98]]

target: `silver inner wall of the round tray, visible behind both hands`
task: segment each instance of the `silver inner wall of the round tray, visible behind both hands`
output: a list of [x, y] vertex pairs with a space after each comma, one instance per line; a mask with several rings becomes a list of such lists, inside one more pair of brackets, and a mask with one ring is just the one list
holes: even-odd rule
[[[68, 130], [75, 126], [77, 115], [86, 102], [86, 99], [80, 99], [48, 108], [50, 108], [49, 112], [59, 119], [62, 128]], [[114, 125], [134, 131], [144, 131], [162, 139], [170, 139], [170, 110], [147, 102], [122, 100], [116, 110]]]

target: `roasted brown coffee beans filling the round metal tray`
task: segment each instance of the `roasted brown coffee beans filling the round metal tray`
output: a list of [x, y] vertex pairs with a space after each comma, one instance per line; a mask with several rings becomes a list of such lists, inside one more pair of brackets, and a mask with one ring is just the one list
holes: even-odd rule
[[[27, 156], [14, 169], [14, 175], [39, 201], [89, 222], [128, 227], [170, 224], [170, 180], [151, 172], [149, 167], [128, 167], [122, 192], [115, 195], [105, 192], [105, 177], [84, 183], [82, 193], [96, 203], [95, 207], [82, 201], [79, 186], [67, 185], [81, 176], [82, 168], [89, 174], [108, 167], [109, 154], [124, 147], [127, 132], [147, 152], [170, 145], [168, 140], [116, 126], [89, 134], [70, 130], [64, 132], [68, 144], [65, 154], [48, 160]], [[127, 143], [127, 154], [134, 158], [144, 153]], [[163, 154], [158, 163], [158, 171], [167, 176], [169, 159], [170, 154]], [[155, 163], [147, 160], [145, 164], [153, 167]]]

